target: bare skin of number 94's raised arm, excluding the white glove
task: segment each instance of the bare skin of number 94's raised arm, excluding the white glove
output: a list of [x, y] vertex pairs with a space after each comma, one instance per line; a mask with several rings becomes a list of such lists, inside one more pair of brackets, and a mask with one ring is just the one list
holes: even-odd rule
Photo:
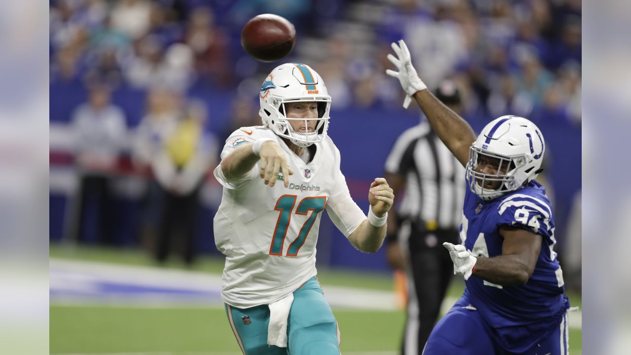
[[463, 165], [469, 160], [469, 147], [476, 135], [469, 124], [456, 112], [445, 106], [430, 90], [420, 90], [414, 99], [427, 116], [433, 131]]

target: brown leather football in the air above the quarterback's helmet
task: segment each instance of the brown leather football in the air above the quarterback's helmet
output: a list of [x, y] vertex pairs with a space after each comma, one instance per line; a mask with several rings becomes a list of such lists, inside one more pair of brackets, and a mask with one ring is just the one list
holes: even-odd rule
[[293, 24], [278, 15], [262, 14], [247, 21], [241, 31], [241, 45], [250, 56], [263, 62], [283, 59], [296, 44]]

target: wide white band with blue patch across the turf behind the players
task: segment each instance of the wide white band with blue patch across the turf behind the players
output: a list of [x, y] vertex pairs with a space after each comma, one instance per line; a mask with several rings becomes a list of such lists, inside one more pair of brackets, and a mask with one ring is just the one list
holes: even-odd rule
[[[199, 296], [173, 296], [168, 293], [103, 294], [98, 282], [127, 286], [183, 289], [199, 292]], [[394, 311], [398, 310], [392, 291], [326, 286], [324, 297], [338, 310]], [[221, 276], [188, 270], [117, 265], [112, 263], [79, 262], [50, 259], [50, 303], [59, 306], [111, 306], [124, 308], [223, 308], [218, 297]], [[66, 293], [64, 293], [66, 292]], [[75, 292], [73, 294], [73, 292]], [[84, 296], [76, 296], [76, 293]], [[217, 296], [209, 296], [215, 294]], [[85, 296], [86, 295], [86, 296]], [[445, 298], [441, 313], [447, 313], [457, 298]], [[582, 313], [569, 313], [570, 328], [582, 327]]]

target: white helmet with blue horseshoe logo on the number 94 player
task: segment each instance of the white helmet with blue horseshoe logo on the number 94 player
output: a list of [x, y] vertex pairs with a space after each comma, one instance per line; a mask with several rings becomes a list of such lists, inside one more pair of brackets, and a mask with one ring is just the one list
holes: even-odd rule
[[[543, 171], [541, 162], [545, 143], [534, 123], [517, 116], [502, 116], [487, 124], [469, 148], [467, 183], [469, 190], [483, 200], [522, 188]], [[499, 159], [497, 174], [477, 172], [481, 156]], [[502, 171], [505, 171], [502, 174]], [[484, 188], [485, 183], [500, 181], [497, 189]]]

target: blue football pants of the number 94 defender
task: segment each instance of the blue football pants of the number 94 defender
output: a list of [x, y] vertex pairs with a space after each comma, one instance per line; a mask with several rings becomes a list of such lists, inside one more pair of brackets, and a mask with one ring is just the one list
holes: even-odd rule
[[478, 311], [459, 299], [433, 328], [423, 355], [567, 355], [567, 312], [560, 327], [526, 352], [508, 352], [495, 344], [491, 330]]

